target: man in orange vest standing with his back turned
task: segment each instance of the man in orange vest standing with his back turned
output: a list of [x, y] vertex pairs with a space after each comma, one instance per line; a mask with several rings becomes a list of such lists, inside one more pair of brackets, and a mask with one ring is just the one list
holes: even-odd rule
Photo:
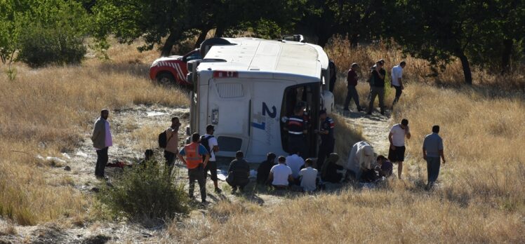
[[[199, 144], [200, 135], [193, 133], [192, 143], [187, 144], [179, 151], [179, 160], [185, 163], [188, 168], [188, 178], [190, 179], [190, 187], [188, 194], [190, 198], [194, 198], [193, 191], [195, 189], [195, 180], [199, 182], [199, 189], [201, 189], [201, 201], [206, 203], [206, 179], [204, 179], [204, 168], [210, 159], [210, 154], [206, 151], [203, 145]], [[184, 158], [186, 157], [186, 159]], [[204, 156], [204, 163], [202, 161]]]

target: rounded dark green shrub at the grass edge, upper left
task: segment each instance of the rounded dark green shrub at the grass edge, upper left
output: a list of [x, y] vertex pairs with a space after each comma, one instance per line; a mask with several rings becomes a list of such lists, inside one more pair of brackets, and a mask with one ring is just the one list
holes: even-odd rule
[[84, 55], [84, 39], [64, 29], [29, 27], [20, 38], [18, 60], [30, 67], [75, 65]]

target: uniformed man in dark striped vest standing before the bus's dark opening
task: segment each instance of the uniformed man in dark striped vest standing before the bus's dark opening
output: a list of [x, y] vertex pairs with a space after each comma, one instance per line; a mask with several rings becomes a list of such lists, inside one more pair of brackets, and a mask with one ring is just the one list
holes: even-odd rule
[[307, 134], [307, 124], [303, 119], [303, 107], [295, 106], [293, 109], [293, 116], [288, 118], [285, 130], [288, 130], [288, 152], [295, 154], [300, 152], [301, 156], [307, 156], [305, 145], [305, 135]]

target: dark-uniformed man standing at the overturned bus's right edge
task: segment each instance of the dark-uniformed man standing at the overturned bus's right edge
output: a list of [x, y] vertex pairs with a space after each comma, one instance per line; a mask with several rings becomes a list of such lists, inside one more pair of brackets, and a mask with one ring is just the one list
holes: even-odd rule
[[319, 120], [321, 121], [321, 145], [319, 146], [319, 155], [317, 156], [317, 170], [321, 171], [323, 167], [324, 159], [326, 156], [333, 153], [333, 147], [335, 146], [335, 138], [333, 137], [333, 128], [335, 123], [333, 119], [326, 116], [326, 110], [319, 111]]

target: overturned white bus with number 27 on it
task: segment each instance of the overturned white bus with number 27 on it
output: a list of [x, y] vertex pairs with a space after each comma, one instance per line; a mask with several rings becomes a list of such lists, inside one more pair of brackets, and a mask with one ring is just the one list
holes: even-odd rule
[[310, 43], [236, 38], [211, 39], [201, 45], [203, 60], [188, 63], [192, 81], [191, 133], [215, 126], [220, 151], [233, 157], [244, 151], [258, 163], [270, 151], [288, 154], [286, 117], [298, 102], [311, 116], [305, 137], [309, 157], [317, 156], [319, 110], [333, 111], [328, 91], [328, 57]]

